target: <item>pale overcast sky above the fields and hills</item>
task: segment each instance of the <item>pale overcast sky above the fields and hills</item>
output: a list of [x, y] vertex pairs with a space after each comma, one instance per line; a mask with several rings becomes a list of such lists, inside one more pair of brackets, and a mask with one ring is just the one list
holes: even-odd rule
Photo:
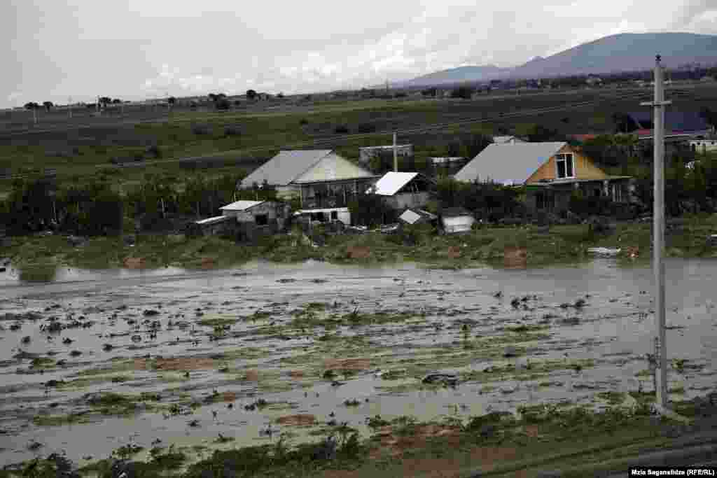
[[366, 87], [622, 32], [717, 34], [717, 1], [0, 0], [0, 107]]

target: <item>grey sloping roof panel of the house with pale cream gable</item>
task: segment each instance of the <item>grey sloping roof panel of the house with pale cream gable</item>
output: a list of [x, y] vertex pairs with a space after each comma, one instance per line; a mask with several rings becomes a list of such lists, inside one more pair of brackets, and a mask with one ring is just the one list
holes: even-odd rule
[[264, 181], [270, 186], [285, 186], [330, 153], [330, 149], [280, 151], [244, 178], [242, 186], [249, 187], [253, 183], [263, 184]]

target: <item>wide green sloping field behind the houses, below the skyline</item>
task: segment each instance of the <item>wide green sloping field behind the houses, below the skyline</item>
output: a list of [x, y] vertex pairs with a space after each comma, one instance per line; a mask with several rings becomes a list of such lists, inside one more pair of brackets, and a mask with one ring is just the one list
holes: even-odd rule
[[[146, 108], [99, 118], [85, 112], [72, 119], [57, 111], [38, 113], [38, 125], [27, 123], [32, 119], [27, 111], [11, 112], [0, 117], [0, 170], [23, 175], [52, 168], [59, 181], [67, 181], [115, 168], [118, 183], [137, 181], [145, 173], [182, 175], [212, 168], [216, 174], [255, 168], [280, 148], [336, 148], [355, 159], [360, 146], [389, 144], [394, 130], [399, 143], [412, 143], [422, 161], [445, 156], [450, 143], [473, 133], [505, 133], [531, 123], [564, 134], [607, 133], [613, 113], [640, 110], [640, 101], [651, 94], [643, 88], [523, 92], [475, 100], [277, 100], [225, 113]], [[667, 96], [674, 109], [717, 109], [717, 87], [711, 85], [673, 87]], [[339, 126], [348, 134], [337, 134]], [[158, 151], [148, 153], [152, 145]], [[124, 166], [110, 163], [113, 158]], [[9, 183], [0, 180], [0, 191]]]

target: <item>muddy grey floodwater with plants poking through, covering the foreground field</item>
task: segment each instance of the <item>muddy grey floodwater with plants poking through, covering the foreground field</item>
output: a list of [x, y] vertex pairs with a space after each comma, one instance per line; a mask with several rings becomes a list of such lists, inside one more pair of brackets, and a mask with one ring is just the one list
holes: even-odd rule
[[[690, 398], [716, 381], [717, 262], [668, 260], [666, 270], [668, 354], [685, 360], [670, 369], [670, 388], [673, 398]], [[313, 439], [333, 420], [368, 434], [364, 422], [376, 415], [465, 419], [551, 401], [600, 407], [601, 392], [652, 389], [644, 376], [654, 330], [652, 272], [609, 259], [527, 271], [253, 262], [201, 272], [70, 269], [43, 284], [0, 277], [0, 317], [6, 317], [0, 320], [0, 464], [52, 451], [82, 462], [130, 442], [148, 449], [157, 439], [164, 446], [205, 446], [195, 448], [200, 457], [282, 433]], [[513, 298], [521, 301], [514, 306]], [[579, 299], [584, 305], [574, 307]], [[290, 325], [311, 302], [326, 306], [318, 318], [351, 312], [407, 312], [408, 318]], [[32, 311], [37, 318], [6, 315]], [[52, 317], [63, 330], [41, 330]], [[210, 340], [212, 325], [199, 324], [207, 319], [228, 326], [217, 340]], [[156, 336], [152, 321], [159, 322]], [[520, 325], [534, 330], [506, 331]], [[518, 357], [503, 356], [510, 346]], [[32, 366], [32, 358], [47, 359], [47, 366]], [[552, 366], [538, 373], [536, 364], [543, 363]], [[485, 372], [508, 365], [519, 373]], [[328, 369], [338, 375], [324, 379]], [[377, 376], [379, 369], [398, 378]], [[422, 386], [420, 378], [432, 371], [462, 379], [455, 387]], [[47, 386], [53, 380], [64, 383]], [[154, 392], [161, 400], [138, 401], [127, 415], [88, 401], [88, 394], [108, 391]], [[268, 406], [245, 409], [260, 398]], [[201, 406], [191, 408], [192, 402]], [[80, 415], [69, 424], [50, 423], [70, 414]], [[280, 423], [295, 414], [316, 422]], [[277, 432], [262, 434], [268, 425]], [[234, 441], [214, 444], [219, 434]], [[29, 451], [33, 441], [42, 446]]]

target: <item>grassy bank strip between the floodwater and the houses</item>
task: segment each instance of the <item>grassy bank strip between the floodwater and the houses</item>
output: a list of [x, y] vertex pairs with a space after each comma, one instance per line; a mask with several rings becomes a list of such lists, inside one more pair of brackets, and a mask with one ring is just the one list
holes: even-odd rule
[[[706, 247], [706, 237], [714, 234], [713, 216], [687, 219], [683, 231], [668, 236], [668, 257], [717, 257], [717, 250]], [[300, 262], [323, 259], [329, 262], [378, 264], [419, 262], [432, 267], [462, 268], [480, 264], [502, 265], [505, 247], [526, 248], [529, 266], [571, 264], [589, 258], [589, 247], [619, 247], [624, 264], [650, 259], [650, 224], [618, 224], [614, 234], [592, 234], [589, 227], [553, 226], [540, 234], [528, 227], [485, 227], [456, 236], [419, 236], [408, 246], [388, 234], [331, 236], [326, 246], [310, 247], [298, 236], [275, 236], [257, 246], [238, 245], [219, 237], [186, 238], [182, 235], [140, 234], [136, 246], [125, 245], [119, 237], [90, 239], [72, 247], [62, 236], [27, 236], [12, 239], [3, 251], [20, 269], [68, 265], [83, 268], [123, 267], [128, 257], [142, 258], [146, 267], [230, 267], [250, 259], [273, 262]], [[363, 247], [368, 257], [348, 257], [349, 248]], [[629, 248], [629, 249], [628, 249]], [[637, 257], [628, 257], [628, 250]]]

